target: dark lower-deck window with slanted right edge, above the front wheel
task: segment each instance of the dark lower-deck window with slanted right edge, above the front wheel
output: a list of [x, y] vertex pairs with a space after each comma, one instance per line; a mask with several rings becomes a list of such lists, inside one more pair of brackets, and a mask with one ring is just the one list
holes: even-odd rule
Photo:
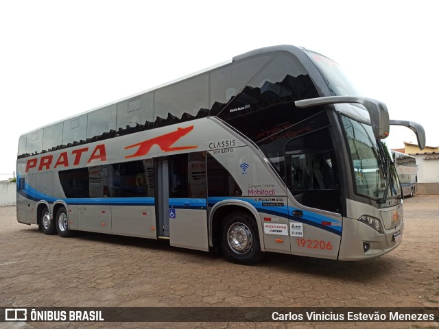
[[232, 175], [210, 154], [207, 155], [207, 179], [209, 197], [239, 197], [242, 195], [241, 188]]

